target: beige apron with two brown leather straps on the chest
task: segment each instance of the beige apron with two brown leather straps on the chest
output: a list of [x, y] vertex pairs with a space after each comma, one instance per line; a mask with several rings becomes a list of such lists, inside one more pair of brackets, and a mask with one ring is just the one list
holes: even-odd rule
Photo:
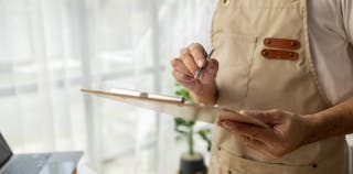
[[[220, 1], [212, 30], [220, 106], [298, 115], [332, 106], [312, 64], [307, 15], [307, 0]], [[215, 129], [211, 174], [347, 173], [343, 135], [267, 161], [227, 131]]]

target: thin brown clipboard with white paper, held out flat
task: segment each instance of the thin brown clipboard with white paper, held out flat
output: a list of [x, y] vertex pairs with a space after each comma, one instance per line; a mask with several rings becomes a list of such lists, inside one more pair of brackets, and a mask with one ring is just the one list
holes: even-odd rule
[[172, 117], [183, 118], [186, 120], [200, 120], [208, 123], [214, 123], [218, 116], [229, 116], [227, 117], [227, 119], [232, 121], [268, 128], [266, 123], [255, 118], [243, 116], [237, 111], [221, 108], [217, 106], [188, 104], [182, 97], [157, 95], [126, 89], [81, 89], [81, 91], [88, 95], [113, 99], [131, 106], [154, 110], [160, 113], [167, 113]]

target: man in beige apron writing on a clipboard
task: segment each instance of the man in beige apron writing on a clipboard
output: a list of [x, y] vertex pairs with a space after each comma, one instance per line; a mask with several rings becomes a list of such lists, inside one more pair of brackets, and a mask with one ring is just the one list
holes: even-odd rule
[[183, 48], [173, 76], [195, 102], [240, 110], [270, 128], [220, 116], [210, 173], [349, 173], [352, 0], [221, 0], [212, 44], [210, 61], [200, 44]]

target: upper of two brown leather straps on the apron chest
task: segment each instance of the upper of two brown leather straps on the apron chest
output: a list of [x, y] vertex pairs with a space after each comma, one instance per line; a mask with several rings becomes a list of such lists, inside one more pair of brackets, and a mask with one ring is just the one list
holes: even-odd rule
[[267, 37], [264, 40], [264, 44], [267, 47], [275, 48], [287, 48], [287, 50], [298, 50], [300, 48], [300, 42], [296, 40], [287, 40], [287, 39], [270, 39]]

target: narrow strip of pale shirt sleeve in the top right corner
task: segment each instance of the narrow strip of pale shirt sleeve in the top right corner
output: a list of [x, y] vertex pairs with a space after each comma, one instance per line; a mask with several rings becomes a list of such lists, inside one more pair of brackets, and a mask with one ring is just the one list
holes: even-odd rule
[[341, 0], [344, 30], [349, 42], [353, 45], [353, 1]]

